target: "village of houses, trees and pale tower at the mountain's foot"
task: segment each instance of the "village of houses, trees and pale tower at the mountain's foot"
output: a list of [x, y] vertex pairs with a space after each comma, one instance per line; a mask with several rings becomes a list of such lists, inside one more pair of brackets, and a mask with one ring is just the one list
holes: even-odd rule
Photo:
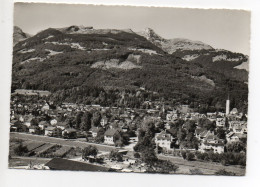
[[[198, 113], [188, 105], [156, 105], [151, 101], [145, 101], [145, 104], [153, 106], [149, 109], [65, 102], [55, 106], [47, 100], [49, 94], [48, 91], [16, 90], [12, 95], [10, 119], [11, 135], [21, 138], [17, 135], [21, 134], [26, 139], [36, 137], [32, 139], [38, 141], [36, 146], [27, 144], [33, 147], [32, 152], [42, 147], [38, 157], [56, 159], [46, 164], [46, 168], [48, 165], [62, 165], [53, 163], [55, 161], [66, 163], [64, 158], [73, 147], [74, 157], [69, 157], [71, 162], [87, 161], [96, 167], [102, 166], [106, 171], [146, 172], [149, 169], [145, 160], [149, 160], [151, 155], [151, 152], [142, 152], [146, 137], [153, 142], [152, 152], [158, 158], [179, 157], [190, 162], [200, 160], [220, 162], [224, 166], [245, 165], [245, 156], [241, 159], [239, 154], [246, 153], [247, 114], [238, 112], [236, 108], [231, 110], [229, 99], [226, 100], [225, 112]], [[37, 97], [38, 103], [20, 97]], [[48, 156], [46, 152], [54, 149], [56, 139], [61, 145], [65, 141], [74, 144], [69, 148], [66, 142], [64, 146], [57, 144], [64, 150], [62, 154]], [[77, 143], [82, 145], [77, 146]], [[236, 155], [239, 162], [231, 163], [229, 157]], [[31, 165], [26, 167], [33, 168]], [[177, 169], [173, 168], [169, 173], [175, 173]]]

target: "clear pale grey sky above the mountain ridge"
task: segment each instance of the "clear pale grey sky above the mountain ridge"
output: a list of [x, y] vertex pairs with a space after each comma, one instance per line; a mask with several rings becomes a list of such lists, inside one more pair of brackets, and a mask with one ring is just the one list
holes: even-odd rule
[[152, 28], [166, 39], [187, 38], [250, 54], [250, 12], [244, 10], [15, 3], [14, 25], [29, 34], [71, 25]]

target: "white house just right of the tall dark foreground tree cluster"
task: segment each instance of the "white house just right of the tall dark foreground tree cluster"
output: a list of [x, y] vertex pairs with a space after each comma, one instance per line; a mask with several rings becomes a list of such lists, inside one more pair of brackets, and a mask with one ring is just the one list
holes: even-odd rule
[[170, 133], [167, 133], [166, 131], [155, 134], [155, 144], [157, 147], [159, 146], [163, 148], [163, 150], [170, 150], [172, 141], [172, 135]]

